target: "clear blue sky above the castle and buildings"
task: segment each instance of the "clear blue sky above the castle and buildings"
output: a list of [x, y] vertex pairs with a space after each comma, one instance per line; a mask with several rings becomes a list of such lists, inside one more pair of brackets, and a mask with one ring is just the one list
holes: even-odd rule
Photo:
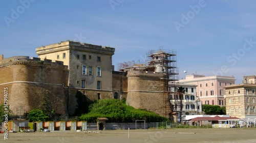
[[[0, 54], [37, 57], [36, 47], [75, 40], [116, 48], [117, 67], [143, 63], [148, 50], [162, 46], [177, 51], [180, 78], [186, 70], [233, 75], [240, 83], [244, 75], [256, 75], [255, 5], [238, 0], [3, 1]], [[183, 25], [179, 32], [175, 22]], [[245, 45], [245, 39], [252, 44]]]

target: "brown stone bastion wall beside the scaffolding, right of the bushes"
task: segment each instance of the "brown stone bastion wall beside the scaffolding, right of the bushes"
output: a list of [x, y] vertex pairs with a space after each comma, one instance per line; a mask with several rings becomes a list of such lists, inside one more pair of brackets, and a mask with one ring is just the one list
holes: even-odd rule
[[127, 105], [154, 111], [161, 116], [166, 116], [165, 111], [170, 112], [169, 102], [165, 102], [168, 96], [162, 92], [166, 89], [163, 89], [165, 83], [160, 80], [161, 75], [128, 72], [127, 77]]

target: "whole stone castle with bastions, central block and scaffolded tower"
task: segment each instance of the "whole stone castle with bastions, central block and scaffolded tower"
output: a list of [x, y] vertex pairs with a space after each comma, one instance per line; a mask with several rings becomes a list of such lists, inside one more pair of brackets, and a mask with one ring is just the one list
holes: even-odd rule
[[[111, 47], [65, 41], [37, 47], [38, 58], [4, 59], [1, 55], [0, 88], [8, 88], [8, 103], [14, 115], [47, 103], [56, 113], [73, 116], [89, 102], [116, 98], [169, 117], [169, 75], [178, 75], [170, 72], [175, 68], [170, 65], [176, 62], [170, 59], [173, 55], [161, 51], [151, 54], [150, 64], [143, 69], [133, 65], [125, 71], [114, 71], [114, 52]], [[3, 92], [0, 90], [0, 95]], [[4, 103], [3, 96], [0, 103]]]

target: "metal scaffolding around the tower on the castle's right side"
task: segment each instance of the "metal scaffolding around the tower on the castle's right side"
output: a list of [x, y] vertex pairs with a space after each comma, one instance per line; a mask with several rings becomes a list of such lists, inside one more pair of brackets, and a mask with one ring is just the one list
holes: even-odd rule
[[170, 102], [172, 95], [177, 94], [177, 90], [175, 89], [178, 87], [177, 81], [179, 80], [177, 52], [174, 50], [159, 49], [150, 50], [146, 55], [147, 70], [162, 74], [160, 82], [162, 88], [163, 115], [172, 120], [173, 112], [177, 112], [177, 109], [172, 108], [173, 104]]

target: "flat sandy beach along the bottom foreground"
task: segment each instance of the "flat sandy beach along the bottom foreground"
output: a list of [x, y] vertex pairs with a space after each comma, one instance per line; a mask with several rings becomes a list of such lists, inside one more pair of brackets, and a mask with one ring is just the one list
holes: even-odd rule
[[255, 128], [107, 130], [97, 132], [52, 131], [9, 133], [1, 142], [256, 142]]

